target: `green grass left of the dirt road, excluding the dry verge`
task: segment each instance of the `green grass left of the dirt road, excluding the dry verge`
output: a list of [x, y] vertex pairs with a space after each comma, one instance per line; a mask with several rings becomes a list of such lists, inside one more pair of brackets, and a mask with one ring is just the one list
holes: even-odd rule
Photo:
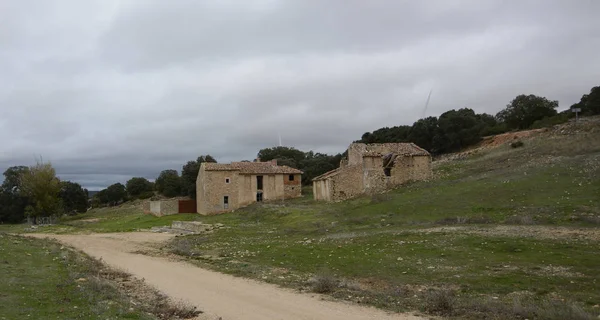
[[0, 319], [155, 319], [94, 280], [90, 263], [54, 242], [0, 234]]

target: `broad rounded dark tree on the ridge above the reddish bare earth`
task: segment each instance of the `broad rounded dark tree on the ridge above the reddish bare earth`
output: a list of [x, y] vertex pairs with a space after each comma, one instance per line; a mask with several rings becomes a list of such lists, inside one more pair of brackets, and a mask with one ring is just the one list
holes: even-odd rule
[[519, 95], [496, 117], [509, 129], [527, 129], [536, 120], [556, 115], [558, 101], [550, 101], [536, 95]]

